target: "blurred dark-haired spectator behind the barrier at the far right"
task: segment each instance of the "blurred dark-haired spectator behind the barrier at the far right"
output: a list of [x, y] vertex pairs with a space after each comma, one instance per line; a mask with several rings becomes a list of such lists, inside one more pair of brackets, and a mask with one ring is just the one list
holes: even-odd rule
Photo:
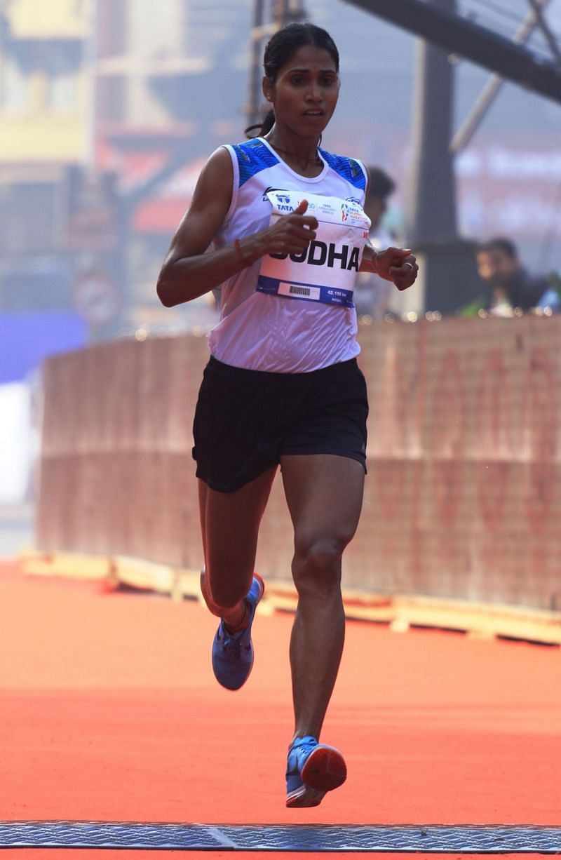
[[545, 275], [528, 273], [514, 243], [497, 237], [477, 249], [479, 277], [488, 288], [481, 307], [494, 316], [512, 316], [515, 308], [549, 306], [559, 310], [558, 292]]

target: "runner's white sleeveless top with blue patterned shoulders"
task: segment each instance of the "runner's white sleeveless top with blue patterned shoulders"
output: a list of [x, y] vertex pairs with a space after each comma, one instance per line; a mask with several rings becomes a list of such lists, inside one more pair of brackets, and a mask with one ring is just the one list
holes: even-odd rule
[[[343, 207], [351, 209], [363, 206], [366, 171], [351, 158], [320, 150], [323, 170], [310, 179], [290, 169], [263, 138], [225, 148], [232, 158], [234, 187], [229, 212], [213, 243], [215, 249], [270, 224], [271, 192], [298, 192], [302, 199], [306, 194], [338, 198]], [[316, 254], [321, 255], [321, 249]], [[342, 266], [340, 254], [332, 250], [331, 256]], [[355, 257], [351, 264], [345, 257], [345, 266], [357, 269], [357, 262], [360, 265], [360, 259]], [[261, 292], [262, 263], [254, 262], [220, 287], [221, 319], [209, 337], [210, 352], [216, 359], [249, 370], [302, 373], [346, 361], [360, 352], [357, 314], [351, 302], [298, 301], [288, 298], [282, 289], [276, 294]], [[348, 282], [349, 272], [345, 278]]]

